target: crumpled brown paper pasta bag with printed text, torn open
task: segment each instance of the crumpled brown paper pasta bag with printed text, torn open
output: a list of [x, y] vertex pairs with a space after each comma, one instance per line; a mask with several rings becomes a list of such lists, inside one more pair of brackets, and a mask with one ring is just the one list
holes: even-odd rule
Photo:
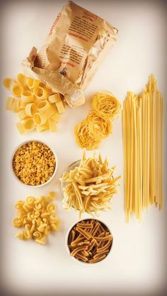
[[69, 1], [39, 52], [33, 48], [23, 71], [64, 95], [69, 106], [84, 104], [84, 89], [116, 40], [117, 29]]

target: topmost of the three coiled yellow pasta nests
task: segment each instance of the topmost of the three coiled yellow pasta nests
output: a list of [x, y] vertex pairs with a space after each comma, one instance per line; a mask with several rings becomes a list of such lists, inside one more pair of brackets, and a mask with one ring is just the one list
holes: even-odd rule
[[97, 92], [92, 98], [93, 111], [103, 119], [114, 119], [120, 113], [120, 102], [111, 92]]

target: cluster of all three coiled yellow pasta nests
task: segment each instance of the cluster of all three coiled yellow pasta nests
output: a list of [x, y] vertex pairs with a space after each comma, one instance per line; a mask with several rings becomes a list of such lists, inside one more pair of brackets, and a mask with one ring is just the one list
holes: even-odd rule
[[95, 94], [92, 107], [93, 111], [74, 128], [76, 143], [87, 150], [98, 148], [101, 140], [110, 135], [113, 129], [111, 120], [120, 113], [120, 103], [110, 92]]

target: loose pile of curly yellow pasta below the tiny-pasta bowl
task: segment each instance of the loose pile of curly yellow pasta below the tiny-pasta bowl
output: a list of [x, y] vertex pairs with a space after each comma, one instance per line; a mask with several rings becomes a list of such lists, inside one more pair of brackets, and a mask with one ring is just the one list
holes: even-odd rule
[[16, 202], [18, 217], [13, 219], [13, 226], [23, 228], [16, 237], [26, 241], [33, 239], [44, 245], [50, 232], [59, 230], [59, 219], [55, 214], [56, 206], [52, 203], [54, 192], [49, 192], [47, 197], [28, 196], [25, 200]]

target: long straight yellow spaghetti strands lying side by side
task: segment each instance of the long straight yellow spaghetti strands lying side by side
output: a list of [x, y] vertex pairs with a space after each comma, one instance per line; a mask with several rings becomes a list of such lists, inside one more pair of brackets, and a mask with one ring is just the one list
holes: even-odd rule
[[163, 208], [163, 97], [154, 75], [144, 92], [127, 93], [122, 111], [125, 212], [142, 218], [149, 204]]

